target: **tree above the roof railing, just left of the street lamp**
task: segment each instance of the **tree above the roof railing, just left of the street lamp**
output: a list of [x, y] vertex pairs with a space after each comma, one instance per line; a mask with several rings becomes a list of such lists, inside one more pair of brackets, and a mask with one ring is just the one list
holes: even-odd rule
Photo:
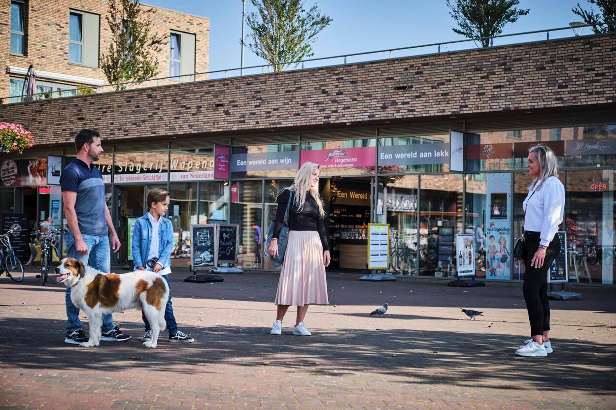
[[460, 28], [452, 28], [455, 33], [467, 38], [482, 38], [483, 47], [490, 46], [486, 37], [503, 33], [507, 23], [515, 23], [518, 18], [529, 14], [530, 9], [516, 9], [520, 0], [447, 0], [449, 14]]

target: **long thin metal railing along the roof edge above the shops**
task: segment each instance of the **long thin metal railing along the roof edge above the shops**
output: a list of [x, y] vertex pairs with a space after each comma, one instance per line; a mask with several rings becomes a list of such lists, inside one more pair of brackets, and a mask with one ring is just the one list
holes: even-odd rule
[[[581, 33], [583, 31], [583, 28], [593, 27], [593, 26], [613, 25], [615, 23], [616, 21], [596, 23], [596, 24], [567, 26], [567, 27], [559, 27], [559, 28], [550, 28], [547, 30], [525, 31], [524, 33], [501, 34], [500, 36], [485, 37], [485, 38], [434, 42], [431, 44], [421, 44], [420, 46], [398, 47], [398, 48], [393, 48], [393, 49], [334, 55], [331, 57], [309, 58], [309, 59], [301, 60], [298, 62], [262, 64], [262, 65], [253, 65], [253, 66], [238, 67], [238, 68], [228, 68], [225, 70], [206, 71], [203, 73], [184, 74], [181, 76], [158, 77], [158, 78], [147, 79], [145, 81], [122, 82], [116, 85], [105, 84], [103, 86], [86, 86], [86, 87], [81, 87], [81, 88], [76, 88], [76, 89], [71, 89], [71, 90], [65, 89], [65, 90], [59, 90], [59, 91], [39, 92], [37, 94], [31, 94], [31, 95], [11, 95], [10, 97], [2, 98], [0, 100], [0, 104], [6, 105], [6, 104], [12, 104], [12, 103], [30, 102], [32, 100], [43, 100], [47, 98], [74, 97], [75, 95], [99, 94], [102, 92], [121, 92], [123, 91], [123, 90], [119, 90], [119, 91], [116, 90], [116, 87], [118, 85], [126, 87], [126, 89], [124, 90], [134, 90], [134, 89], [144, 88], [144, 87], [157, 87], [157, 86], [163, 86], [163, 85], [169, 85], [169, 84], [181, 84], [184, 82], [209, 81], [209, 80], [215, 80], [215, 79], [221, 79], [221, 78], [237, 78], [237, 77], [244, 77], [244, 76], [253, 76], [253, 75], [258, 75], [258, 74], [274, 73], [274, 66], [281, 66], [281, 65], [292, 67], [290, 68], [290, 70], [285, 70], [285, 71], [299, 71], [299, 70], [309, 70], [313, 68], [325, 68], [325, 67], [331, 67], [331, 66], [355, 64], [355, 63], [376, 62], [376, 61], [382, 61], [382, 60], [389, 60], [392, 58], [419, 57], [422, 55], [434, 55], [434, 54], [444, 54], [444, 53], [450, 53], [450, 52], [469, 51], [469, 50], [476, 50], [478, 48], [484, 48], [482, 47], [481, 44], [482, 44], [482, 40], [486, 40], [486, 39], [490, 42], [490, 47], [498, 47], [498, 46], [529, 44], [532, 42], [545, 42], [545, 41], [551, 41], [555, 39], [572, 38], [572, 37], [589, 38], [589, 37], [596, 36], [598, 34], [586, 34], [582, 36]], [[580, 33], [577, 33], [575, 30], [580, 30]], [[610, 31], [609, 33], [616, 33], [616, 31]], [[513, 38], [516, 38], [517, 41], [512, 41]], [[474, 44], [474, 47], [469, 48], [467, 46], [469, 43]], [[367, 58], [370, 55], [373, 55], [375, 57]], [[330, 62], [330, 63], [323, 64], [323, 62]]]

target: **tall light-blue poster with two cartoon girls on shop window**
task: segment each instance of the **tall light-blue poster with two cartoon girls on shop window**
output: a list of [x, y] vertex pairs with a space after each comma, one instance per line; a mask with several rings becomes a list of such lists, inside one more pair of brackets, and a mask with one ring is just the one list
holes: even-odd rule
[[486, 174], [485, 278], [511, 279], [511, 174]]

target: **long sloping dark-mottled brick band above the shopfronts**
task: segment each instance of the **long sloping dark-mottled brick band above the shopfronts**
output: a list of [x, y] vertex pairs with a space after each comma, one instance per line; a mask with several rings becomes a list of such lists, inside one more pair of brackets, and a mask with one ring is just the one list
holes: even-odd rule
[[121, 140], [614, 107], [615, 51], [616, 34], [567, 38], [5, 105], [0, 115], [53, 144], [85, 126]]

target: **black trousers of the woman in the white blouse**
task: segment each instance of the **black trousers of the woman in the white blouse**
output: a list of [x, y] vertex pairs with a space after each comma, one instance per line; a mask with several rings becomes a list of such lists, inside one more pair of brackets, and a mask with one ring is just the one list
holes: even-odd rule
[[540, 233], [533, 231], [524, 232], [524, 300], [529, 311], [530, 336], [543, 335], [549, 331], [549, 302], [548, 302], [548, 269], [558, 252], [561, 250], [561, 239], [554, 235], [553, 241], [545, 251], [543, 266], [533, 268], [530, 261], [539, 248]]

